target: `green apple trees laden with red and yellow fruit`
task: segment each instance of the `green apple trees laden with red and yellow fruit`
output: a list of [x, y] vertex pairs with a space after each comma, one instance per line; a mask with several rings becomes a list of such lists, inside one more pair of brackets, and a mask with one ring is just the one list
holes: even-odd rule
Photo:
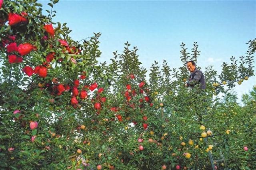
[[206, 90], [189, 91], [197, 42], [191, 53], [181, 44], [178, 68], [155, 61], [147, 81], [128, 42], [98, 64], [100, 33], [72, 40], [52, 22], [57, 2], [44, 16], [36, 0], [0, 0], [0, 169], [210, 169], [207, 152], [220, 151], [218, 169], [256, 168], [256, 88], [244, 106], [232, 93], [253, 76], [256, 39], [219, 75], [206, 68]]

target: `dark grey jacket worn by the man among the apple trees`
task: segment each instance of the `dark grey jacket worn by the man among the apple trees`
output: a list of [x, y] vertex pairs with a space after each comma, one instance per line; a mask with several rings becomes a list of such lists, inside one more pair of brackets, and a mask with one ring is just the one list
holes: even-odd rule
[[201, 88], [205, 89], [204, 74], [202, 71], [195, 68], [195, 70], [191, 72], [187, 84], [193, 88], [194, 85], [198, 84], [198, 82], [201, 84]]

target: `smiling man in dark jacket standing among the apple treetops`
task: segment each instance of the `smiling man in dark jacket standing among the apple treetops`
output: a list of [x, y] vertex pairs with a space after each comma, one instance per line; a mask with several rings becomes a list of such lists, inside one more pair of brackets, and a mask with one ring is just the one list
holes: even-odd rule
[[194, 61], [188, 61], [187, 68], [191, 73], [189, 76], [189, 80], [187, 81], [185, 86], [193, 88], [194, 85], [200, 83], [201, 88], [205, 89], [204, 74], [202, 73], [202, 71], [200, 71], [196, 68], [196, 64], [194, 63]]

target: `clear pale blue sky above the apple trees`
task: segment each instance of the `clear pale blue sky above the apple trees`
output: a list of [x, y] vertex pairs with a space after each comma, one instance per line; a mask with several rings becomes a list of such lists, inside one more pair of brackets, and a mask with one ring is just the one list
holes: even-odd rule
[[[44, 10], [50, 9], [49, 0], [38, 2]], [[220, 65], [231, 56], [245, 55], [246, 43], [256, 37], [256, 2], [250, 0], [60, 0], [54, 10], [53, 21], [67, 22], [74, 40], [102, 33], [99, 61], [109, 62], [112, 52], [122, 53], [129, 41], [138, 47], [145, 68], [164, 59], [171, 68], [181, 66], [180, 44], [186, 43], [190, 51], [197, 41], [198, 65], [203, 71], [213, 65], [220, 73]], [[237, 86], [238, 98], [255, 84], [253, 76]]]

